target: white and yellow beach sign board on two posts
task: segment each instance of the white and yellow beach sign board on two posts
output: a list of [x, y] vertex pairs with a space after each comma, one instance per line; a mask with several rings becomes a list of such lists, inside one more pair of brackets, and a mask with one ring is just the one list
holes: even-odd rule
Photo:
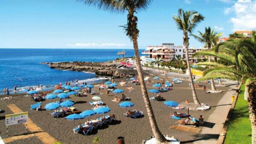
[[26, 132], [28, 132], [27, 128], [27, 122], [29, 119], [28, 116], [29, 112], [20, 112], [20, 113], [15, 113], [11, 115], [6, 115], [6, 135], [8, 135], [8, 126], [14, 125], [14, 124], [22, 124], [26, 123]]

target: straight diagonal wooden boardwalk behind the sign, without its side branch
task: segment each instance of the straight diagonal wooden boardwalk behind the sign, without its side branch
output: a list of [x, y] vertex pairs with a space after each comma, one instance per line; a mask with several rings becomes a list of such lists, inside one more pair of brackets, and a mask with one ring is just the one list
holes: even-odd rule
[[[14, 113], [20, 113], [23, 112], [20, 108], [18, 108], [15, 104], [10, 104], [7, 107], [12, 110]], [[26, 124], [23, 123], [25, 126]], [[56, 142], [57, 140], [53, 138], [51, 135], [49, 135], [47, 132], [44, 132], [40, 127], [38, 127], [33, 121], [28, 118], [27, 122], [27, 128], [30, 132], [34, 132], [33, 135], [35, 135], [38, 139], [40, 139], [44, 144], [52, 144]], [[21, 137], [22, 138], [22, 137]], [[24, 137], [25, 138], [25, 137]]]

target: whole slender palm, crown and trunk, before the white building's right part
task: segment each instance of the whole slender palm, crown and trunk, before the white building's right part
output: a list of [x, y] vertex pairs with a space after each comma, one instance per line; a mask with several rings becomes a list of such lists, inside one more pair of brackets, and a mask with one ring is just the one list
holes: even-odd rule
[[204, 17], [196, 11], [186, 11], [179, 9], [178, 14], [172, 17], [175, 21], [177, 28], [183, 32], [183, 45], [186, 48], [186, 63], [189, 71], [189, 80], [192, 88], [192, 95], [195, 104], [200, 104], [195, 92], [195, 86], [192, 79], [192, 73], [189, 64], [189, 34], [192, 34], [195, 27], [204, 20]]

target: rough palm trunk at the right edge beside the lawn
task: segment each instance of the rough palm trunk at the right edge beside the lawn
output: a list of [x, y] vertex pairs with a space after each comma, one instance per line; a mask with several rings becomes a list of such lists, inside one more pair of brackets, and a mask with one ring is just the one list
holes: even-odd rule
[[250, 92], [248, 97], [248, 109], [252, 127], [252, 144], [256, 144], [256, 89]]

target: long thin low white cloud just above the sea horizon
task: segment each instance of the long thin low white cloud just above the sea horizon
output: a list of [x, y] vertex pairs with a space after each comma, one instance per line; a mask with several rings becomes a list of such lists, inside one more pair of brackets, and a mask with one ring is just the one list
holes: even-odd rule
[[124, 47], [128, 46], [124, 43], [76, 43], [76, 44], [67, 44], [70, 47]]

